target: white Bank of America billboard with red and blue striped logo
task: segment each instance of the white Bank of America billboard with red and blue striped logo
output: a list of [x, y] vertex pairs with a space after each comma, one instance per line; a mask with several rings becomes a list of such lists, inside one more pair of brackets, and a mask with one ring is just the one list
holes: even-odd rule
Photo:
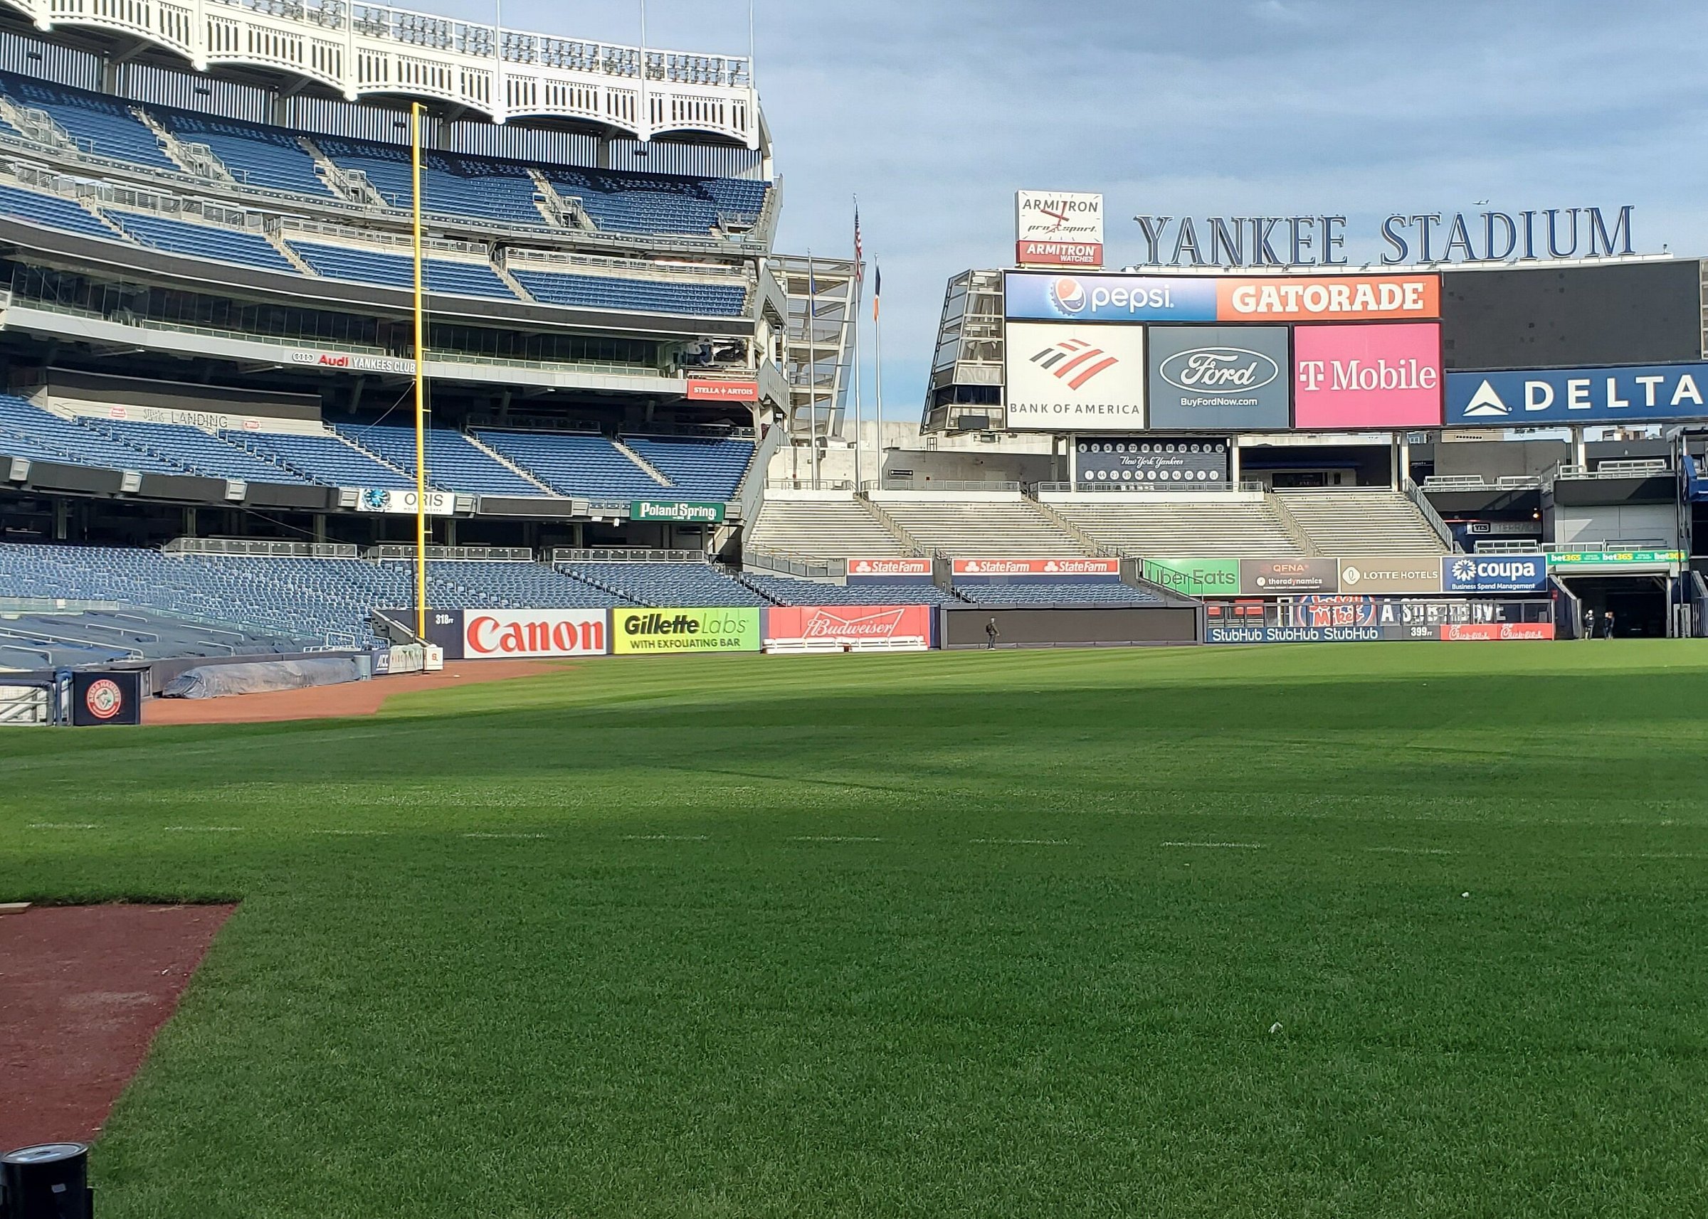
[[1144, 427], [1143, 326], [1013, 323], [1004, 347], [1011, 430]]

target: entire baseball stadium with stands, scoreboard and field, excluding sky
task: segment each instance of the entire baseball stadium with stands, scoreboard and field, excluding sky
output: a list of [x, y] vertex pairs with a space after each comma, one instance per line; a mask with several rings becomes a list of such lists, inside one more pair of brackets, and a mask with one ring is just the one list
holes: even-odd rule
[[0, 0], [0, 1219], [1703, 1212], [1708, 261], [753, 60]]

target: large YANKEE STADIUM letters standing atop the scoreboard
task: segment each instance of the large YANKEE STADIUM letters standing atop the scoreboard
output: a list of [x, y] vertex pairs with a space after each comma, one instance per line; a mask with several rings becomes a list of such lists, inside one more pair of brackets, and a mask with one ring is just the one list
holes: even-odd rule
[[[1529, 212], [1392, 213], [1377, 227], [1382, 265], [1500, 263], [1635, 254], [1631, 205]], [[1132, 217], [1143, 266], [1346, 266], [1344, 215]]]

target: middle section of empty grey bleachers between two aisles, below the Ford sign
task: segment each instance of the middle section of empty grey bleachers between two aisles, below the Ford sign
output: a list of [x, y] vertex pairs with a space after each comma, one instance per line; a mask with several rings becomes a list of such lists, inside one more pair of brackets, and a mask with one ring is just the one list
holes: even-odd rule
[[1138, 557], [1286, 557], [1300, 553], [1267, 500], [1230, 500], [1185, 492], [1173, 500], [1149, 497], [1081, 497], [1052, 502], [1066, 521], [1097, 545]]

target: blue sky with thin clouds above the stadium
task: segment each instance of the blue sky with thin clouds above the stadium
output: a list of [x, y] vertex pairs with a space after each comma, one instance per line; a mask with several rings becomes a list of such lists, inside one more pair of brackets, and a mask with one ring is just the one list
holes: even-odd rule
[[[454, 0], [420, 7], [488, 15]], [[635, 41], [637, 0], [511, 0]], [[917, 411], [945, 280], [1003, 265], [1016, 188], [1134, 213], [1348, 217], [1631, 203], [1640, 253], [1708, 253], [1701, 0], [757, 0], [779, 248], [883, 265], [885, 398]], [[746, 0], [649, 0], [647, 41], [745, 51]]]

